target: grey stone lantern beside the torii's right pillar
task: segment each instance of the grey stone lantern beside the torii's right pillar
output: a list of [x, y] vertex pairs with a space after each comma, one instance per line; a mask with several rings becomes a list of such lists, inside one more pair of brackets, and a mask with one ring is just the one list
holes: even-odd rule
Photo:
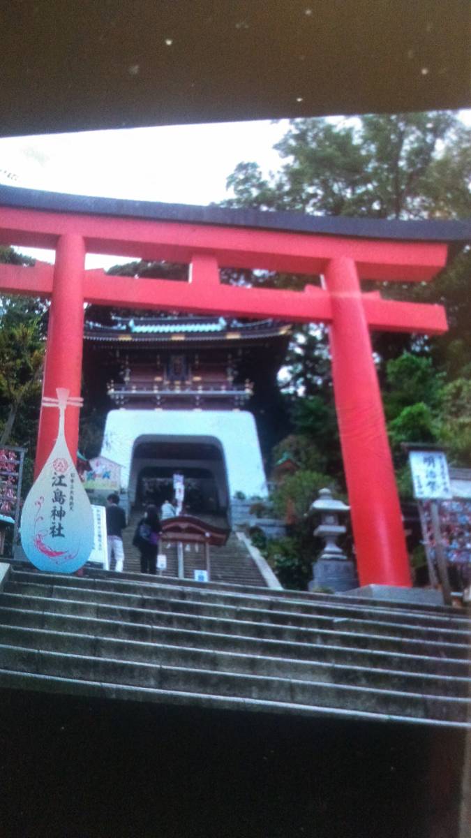
[[347, 531], [340, 519], [349, 509], [342, 500], [332, 497], [330, 489], [320, 489], [318, 499], [311, 505], [311, 510], [320, 513], [321, 516], [314, 535], [323, 538], [325, 546], [318, 560], [313, 562], [313, 578], [308, 583], [310, 591], [318, 587], [328, 587], [332, 591], [349, 591], [358, 586], [355, 562], [348, 559], [337, 544], [339, 535], [344, 535]]

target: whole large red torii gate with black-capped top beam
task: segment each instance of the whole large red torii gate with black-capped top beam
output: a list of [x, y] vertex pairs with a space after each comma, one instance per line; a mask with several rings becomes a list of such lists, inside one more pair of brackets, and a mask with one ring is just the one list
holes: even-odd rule
[[[144, 216], [144, 217], [143, 217]], [[147, 216], [147, 217], [146, 217]], [[160, 217], [159, 217], [160, 216]], [[176, 219], [176, 220], [175, 220]], [[426, 223], [427, 224], [427, 223]], [[4, 292], [52, 299], [43, 396], [80, 396], [84, 301], [298, 323], [329, 323], [334, 396], [361, 584], [409, 586], [409, 561], [370, 329], [442, 334], [441, 306], [383, 300], [361, 279], [430, 280], [445, 265], [453, 222], [316, 219], [0, 188], [0, 241], [55, 249], [55, 265], [0, 265]], [[418, 225], [418, 226], [417, 226]], [[459, 225], [459, 222], [458, 222]], [[435, 234], [433, 230], [435, 229]], [[442, 241], [424, 241], [435, 235]], [[414, 239], [416, 241], [414, 241]], [[140, 256], [190, 266], [189, 282], [85, 271], [85, 252]], [[221, 266], [322, 274], [304, 292], [220, 284]], [[77, 450], [79, 408], [67, 411]], [[56, 418], [41, 410], [36, 471], [54, 443]]]

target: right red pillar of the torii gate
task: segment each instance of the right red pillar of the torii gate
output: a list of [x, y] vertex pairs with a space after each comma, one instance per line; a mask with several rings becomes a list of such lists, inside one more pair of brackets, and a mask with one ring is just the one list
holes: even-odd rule
[[360, 583], [411, 585], [370, 330], [353, 259], [329, 262], [332, 378]]

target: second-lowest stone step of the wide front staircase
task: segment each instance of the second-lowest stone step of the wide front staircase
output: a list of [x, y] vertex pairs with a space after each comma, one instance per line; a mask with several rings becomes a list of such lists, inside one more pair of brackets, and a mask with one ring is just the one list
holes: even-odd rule
[[[215, 649], [164, 645], [115, 638], [96, 637], [93, 634], [74, 634], [49, 629], [31, 629], [0, 624], [0, 668], [9, 668], [9, 652], [3, 660], [3, 650], [11, 646], [18, 649], [39, 650], [41, 653], [78, 655], [80, 657], [107, 659], [122, 662], [171, 666], [179, 669], [210, 670], [239, 675], [257, 675], [269, 678], [295, 679], [330, 685], [348, 685], [368, 690], [423, 693], [429, 696], [468, 696], [470, 678], [454, 675], [424, 674], [396, 671], [358, 665], [334, 664], [313, 660], [296, 660], [261, 654], [223, 652]], [[471, 709], [471, 702], [470, 702]]]

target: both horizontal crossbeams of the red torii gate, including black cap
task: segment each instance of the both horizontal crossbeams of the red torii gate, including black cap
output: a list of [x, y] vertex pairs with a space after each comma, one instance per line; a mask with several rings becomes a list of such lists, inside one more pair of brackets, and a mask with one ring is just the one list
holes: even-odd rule
[[[0, 187], [2, 204], [0, 241], [6, 244], [56, 247], [60, 236], [80, 235], [89, 252], [183, 261], [191, 266], [187, 283], [111, 279], [102, 271], [85, 272], [84, 298], [90, 303], [217, 311], [293, 322], [329, 323], [329, 293], [313, 286], [304, 293], [227, 287], [219, 282], [220, 266], [313, 274], [324, 272], [334, 258], [349, 258], [363, 279], [427, 281], [445, 264], [447, 242], [459, 247], [469, 235], [467, 222], [319, 219], [11, 187]], [[38, 263], [34, 271], [14, 266], [2, 266], [0, 271], [5, 291], [52, 294], [52, 267]], [[447, 328], [440, 306], [385, 301], [375, 293], [362, 298], [370, 328], [427, 334], [440, 334]]]

